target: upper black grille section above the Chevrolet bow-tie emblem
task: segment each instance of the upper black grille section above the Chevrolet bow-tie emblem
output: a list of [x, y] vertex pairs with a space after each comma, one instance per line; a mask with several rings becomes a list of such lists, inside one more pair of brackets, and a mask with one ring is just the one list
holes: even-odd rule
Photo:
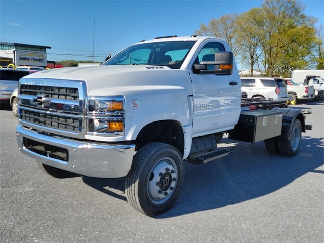
[[77, 88], [44, 86], [44, 85], [21, 85], [20, 94], [37, 96], [48, 95], [50, 98], [78, 100], [79, 91]]

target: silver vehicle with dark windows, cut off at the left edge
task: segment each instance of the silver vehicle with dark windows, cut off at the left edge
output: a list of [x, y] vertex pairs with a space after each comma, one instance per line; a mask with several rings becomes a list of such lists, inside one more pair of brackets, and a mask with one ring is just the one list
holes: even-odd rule
[[10, 102], [14, 89], [18, 88], [19, 79], [28, 75], [28, 71], [18, 71], [10, 68], [0, 69], [0, 102]]

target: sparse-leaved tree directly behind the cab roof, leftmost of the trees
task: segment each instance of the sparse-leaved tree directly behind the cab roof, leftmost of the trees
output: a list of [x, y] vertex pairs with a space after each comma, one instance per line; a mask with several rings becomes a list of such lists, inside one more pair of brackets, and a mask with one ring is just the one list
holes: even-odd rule
[[220, 17], [219, 19], [211, 19], [208, 26], [205, 24], [200, 25], [200, 29], [196, 31], [197, 35], [201, 36], [215, 36], [225, 39], [231, 47], [234, 56], [236, 56], [242, 44], [238, 37], [237, 14], [228, 14]]

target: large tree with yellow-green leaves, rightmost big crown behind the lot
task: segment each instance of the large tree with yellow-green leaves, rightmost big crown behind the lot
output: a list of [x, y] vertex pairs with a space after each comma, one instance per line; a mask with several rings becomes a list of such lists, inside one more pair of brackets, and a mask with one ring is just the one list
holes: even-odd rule
[[299, 1], [266, 0], [258, 15], [252, 16], [260, 37], [266, 75], [286, 74], [292, 68], [309, 64], [306, 58], [314, 45], [314, 19], [305, 16], [302, 10]]

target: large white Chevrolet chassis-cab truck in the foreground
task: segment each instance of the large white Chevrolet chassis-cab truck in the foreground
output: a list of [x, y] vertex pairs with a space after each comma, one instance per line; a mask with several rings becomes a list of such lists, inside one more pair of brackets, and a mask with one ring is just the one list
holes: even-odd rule
[[232, 152], [217, 149], [221, 133], [294, 156], [311, 128], [298, 109], [241, 102], [233, 54], [215, 37], [155, 38], [100, 67], [37, 72], [20, 80], [18, 97], [21, 152], [57, 178], [125, 177], [127, 200], [149, 216], [175, 203], [183, 161]]

